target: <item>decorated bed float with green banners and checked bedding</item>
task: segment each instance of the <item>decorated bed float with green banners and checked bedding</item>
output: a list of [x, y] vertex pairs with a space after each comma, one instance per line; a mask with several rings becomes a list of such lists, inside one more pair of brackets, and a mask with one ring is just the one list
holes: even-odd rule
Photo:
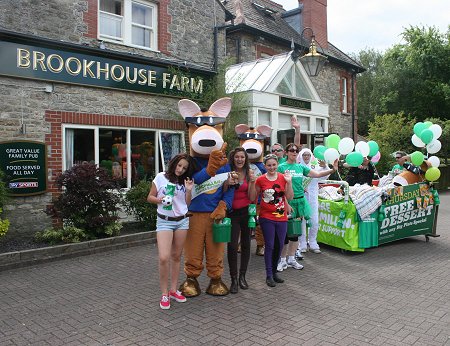
[[428, 241], [439, 236], [438, 205], [432, 183], [383, 189], [364, 185], [349, 188], [345, 181], [328, 180], [319, 193], [317, 240], [359, 252], [418, 235]]

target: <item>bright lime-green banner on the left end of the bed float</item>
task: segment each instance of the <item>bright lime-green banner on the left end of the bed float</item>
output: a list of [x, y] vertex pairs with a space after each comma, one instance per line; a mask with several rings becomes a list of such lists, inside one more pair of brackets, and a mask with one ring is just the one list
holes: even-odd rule
[[364, 251], [358, 246], [358, 220], [353, 203], [319, 199], [317, 241], [349, 251]]

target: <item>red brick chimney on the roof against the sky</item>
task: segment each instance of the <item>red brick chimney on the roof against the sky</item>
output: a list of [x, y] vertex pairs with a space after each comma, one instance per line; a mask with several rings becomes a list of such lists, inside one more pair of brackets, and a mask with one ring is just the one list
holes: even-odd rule
[[[298, 0], [298, 2], [300, 6], [303, 5], [303, 28], [311, 28], [316, 36], [316, 41], [323, 49], [327, 49], [327, 0]], [[304, 35], [309, 37], [309, 30], [305, 31]]]

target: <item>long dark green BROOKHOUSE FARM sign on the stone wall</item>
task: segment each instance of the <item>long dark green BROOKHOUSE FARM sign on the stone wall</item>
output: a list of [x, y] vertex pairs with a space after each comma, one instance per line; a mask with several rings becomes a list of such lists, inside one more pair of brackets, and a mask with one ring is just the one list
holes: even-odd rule
[[80, 53], [61, 46], [52, 49], [0, 38], [0, 74], [192, 98], [203, 94], [204, 79], [209, 78], [206, 73], [198, 75], [102, 55], [104, 52]]

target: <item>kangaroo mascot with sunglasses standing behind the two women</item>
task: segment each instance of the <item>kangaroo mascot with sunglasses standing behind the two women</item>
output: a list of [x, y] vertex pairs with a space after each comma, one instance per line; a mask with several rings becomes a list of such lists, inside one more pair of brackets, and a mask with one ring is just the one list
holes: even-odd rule
[[[245, 149], [250, 161], [250, 169], [253, 170], [256, 177], [266, 173], [263, 164], [264, 140], [270, 138], [272, 128], [267, 125], [259, 125], [256, 128], [249, 127], [246, 124], [236, 125], [234, 128], [241, 147]], [[258, 225], [255, 230], [256, 255], [264, 256], [264, 237], [261, 227]]]

